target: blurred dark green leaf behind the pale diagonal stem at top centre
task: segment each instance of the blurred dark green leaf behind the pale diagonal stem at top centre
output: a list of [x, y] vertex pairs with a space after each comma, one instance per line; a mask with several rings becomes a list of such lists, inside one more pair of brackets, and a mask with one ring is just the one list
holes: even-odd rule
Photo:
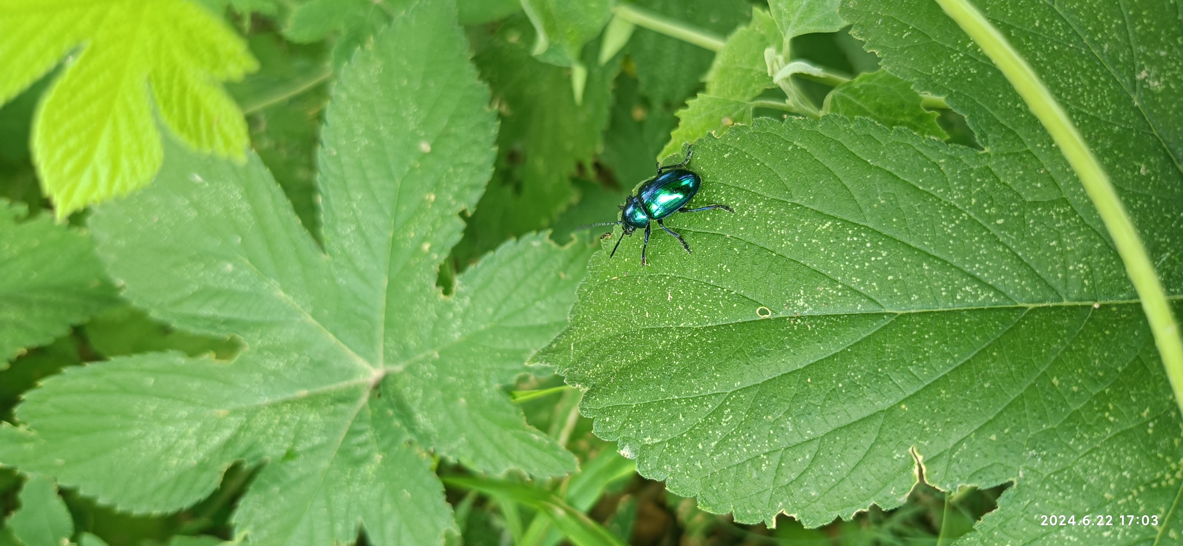
[[[640, 0], [635, 4], [718, 35], [730, 34], [752, 11], [743, 0]], [[715, 58], [709, 50], [647, 28], [639, 28], [625, 51], [636, 64], [641, 95], [653, 102], [654, 109], [671, 111], [700, 87]]]

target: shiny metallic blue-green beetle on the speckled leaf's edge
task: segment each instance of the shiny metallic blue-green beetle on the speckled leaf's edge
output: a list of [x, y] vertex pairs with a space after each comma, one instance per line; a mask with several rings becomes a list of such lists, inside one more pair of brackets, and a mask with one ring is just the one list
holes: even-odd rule
[[694, 194], [698, 193], [699, 188], [703, 187], [703, 177], [698, 176], [698, 173], [687, 169], [690, 164], [690, 157], [693, 155], [693, 150], [686, 147], [686, 158], [681, 163], [675, 165], [662, 167], [658, 162], [658, 174], [657, 176], [649, 178], [641, 188], [636, 191], [636, 195], [629, 195], [625, 201], [625, 204], [620, 206], [620, 221], [619, 222], [600, 222], [593, 223], [584, 227], [595, 226], [621, 226], [623, 232], [620, 238], [616, 239], [616, 246], [612, 247], [612, 254], [608, 258], [616, 255], [616, 248], [620, 248], [620, 241], [625, 239], [625, 235], [632, 236], [633, 232], [645, 228], [645, 245], [641, 246], [641, 265], [648, 265], [648, 259], [645, 256], [645, 252], [649, 247], [649, 230], [651, 223], [657, 222], [661, 229], [666, 233], [673, 235], [681, 242], [681, 247], [690, 252], [690, 245], [686, 240], [674, 230], [665, 226], [665, 219], [673, 213], [699, 213], [703, 210], [723, 209], [729, 213], [735, 213], [731, 207], [726, 204], [707, 204], [705, 207], [690, 208], [686, 203], [694, 199]]

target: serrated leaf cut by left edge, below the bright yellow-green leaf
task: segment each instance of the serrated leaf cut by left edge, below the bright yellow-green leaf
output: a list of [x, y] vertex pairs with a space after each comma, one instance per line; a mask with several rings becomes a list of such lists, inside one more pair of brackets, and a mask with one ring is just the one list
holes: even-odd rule
[[90, 236], [0, 200], [0, 369], [116, 303]]

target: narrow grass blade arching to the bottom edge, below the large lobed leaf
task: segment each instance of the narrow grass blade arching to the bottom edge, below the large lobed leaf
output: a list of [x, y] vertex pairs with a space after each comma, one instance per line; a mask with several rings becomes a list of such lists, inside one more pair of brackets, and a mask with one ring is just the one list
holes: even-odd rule
[[625, 546], [612, 532], [545, 489], [483, 477], [446, 477], [444, 481], [526, 505], [549, 518], [576, 546]]

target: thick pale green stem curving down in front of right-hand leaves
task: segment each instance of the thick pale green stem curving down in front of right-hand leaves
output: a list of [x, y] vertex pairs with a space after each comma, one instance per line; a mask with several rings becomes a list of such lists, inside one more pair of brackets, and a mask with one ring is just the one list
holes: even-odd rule
[[1166, 292], [1163, 291], [1150, 255], [1146, 254], [1133, 221], [1130, 220], [1108, 175], [1105, 174], [1105, 168], [1088, 149], [1084, 136], [1043, 85], [1035, 70], [982, 12], [969, 0], [936, 0], [936, 2], [957, 21], [957, 25], [1010, 80], [1015, 91], [1027, 103], [1027, 108], [1052, 135], [1052, 139], [1060, 147], [1064, 157], [1077, 173], [1101, 221], [1105, 222], [1105, 228], [1113, 238], [1113, 245], [1117, 246], [1117, 252], [1125, 264], [1126, 274], [1138, 292], [1142, 310], [1146, 313], [1150, 331], [1155, 334], [1155, 345], [1158, 346], [1158, 355], [1163, 359], [1163, 368], [1166, 369], [1166, 377], [1175, 392], [1175, 403], [1183, 409], [1183, 340], [1179, 339], [1178, 324], [1171, 313]]

